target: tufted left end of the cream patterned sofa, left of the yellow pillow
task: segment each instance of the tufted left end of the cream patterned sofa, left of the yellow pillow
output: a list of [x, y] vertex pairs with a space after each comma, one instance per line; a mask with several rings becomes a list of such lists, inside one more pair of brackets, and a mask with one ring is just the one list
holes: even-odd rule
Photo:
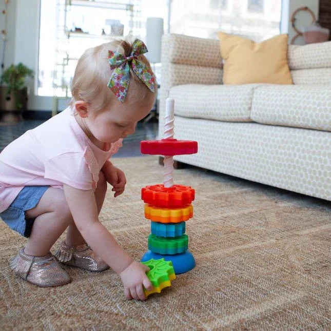
[[[161, 47], [159, 138], [163, 136], [165, 100], [172, 86], [222, 84], [222, 59], [218, 40], [181, 34], [164, 34]], [[176, 100], [175, 100], [176, 110]]]

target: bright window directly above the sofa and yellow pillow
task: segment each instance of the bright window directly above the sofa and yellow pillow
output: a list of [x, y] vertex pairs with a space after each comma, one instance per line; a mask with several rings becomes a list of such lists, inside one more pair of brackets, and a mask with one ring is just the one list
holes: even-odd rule
[[170, 32], [217, 39], [223, 31], [260, 42], [280, 33], [281, 5], [281, 0], [172, 1]]

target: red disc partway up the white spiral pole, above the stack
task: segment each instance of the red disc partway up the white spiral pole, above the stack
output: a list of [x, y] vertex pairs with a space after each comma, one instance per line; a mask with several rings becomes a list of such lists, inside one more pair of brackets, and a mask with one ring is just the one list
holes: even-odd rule
[[183, 155], [198, 152], [198, 142], [190, 140], [162, 139], [143, 140], [140, 142], [143, 154]]

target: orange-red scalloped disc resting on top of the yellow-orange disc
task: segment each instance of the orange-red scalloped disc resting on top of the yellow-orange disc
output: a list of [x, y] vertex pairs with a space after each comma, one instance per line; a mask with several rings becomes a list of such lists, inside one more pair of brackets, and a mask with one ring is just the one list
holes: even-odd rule
[[163, 184], [148, 185], [142, 188], [141, 198], [155, 207], [183, 207], [194, 200], [194, 189], [184, 185], [171, 187], [164, 187]]

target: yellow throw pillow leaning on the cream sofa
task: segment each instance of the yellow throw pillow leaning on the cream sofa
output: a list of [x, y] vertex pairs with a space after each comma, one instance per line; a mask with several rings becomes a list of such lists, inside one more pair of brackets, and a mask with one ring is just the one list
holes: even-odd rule
[[261, 43], [223, 32], [218, 35], [225, 62], [224, 84], [293, 84], [287, 63], [287, 34]]

